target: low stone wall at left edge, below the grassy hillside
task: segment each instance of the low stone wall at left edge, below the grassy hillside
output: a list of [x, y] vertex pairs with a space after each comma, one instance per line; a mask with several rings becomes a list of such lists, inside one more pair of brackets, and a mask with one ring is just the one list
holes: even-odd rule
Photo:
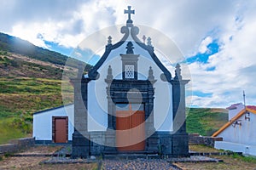
[[13, 139], [9, 144], [0, 144], [0, 154], [16, 152], [18, 150], [31, 147], [35, 144], [34, 138]]

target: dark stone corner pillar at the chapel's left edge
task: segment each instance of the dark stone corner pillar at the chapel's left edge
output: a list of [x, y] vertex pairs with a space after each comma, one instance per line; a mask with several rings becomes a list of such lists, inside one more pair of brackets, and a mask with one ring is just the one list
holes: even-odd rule
[[83, 65], [79, 65], [78, 77], [72, 80], [74, 88], [73, 158], [90, 155], [90, 136], [87, 127], [87, 88], [90, 80], [84, 78], [83, 68]]

